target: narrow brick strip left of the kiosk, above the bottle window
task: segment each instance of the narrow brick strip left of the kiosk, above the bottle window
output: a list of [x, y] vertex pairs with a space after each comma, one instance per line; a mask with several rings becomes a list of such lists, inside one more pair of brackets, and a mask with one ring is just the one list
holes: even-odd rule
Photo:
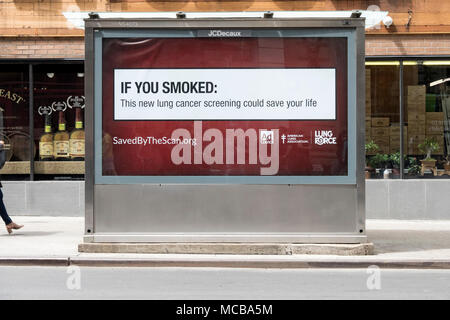
[[83, 38], [1, 38], [0, 59], [82, 59]]

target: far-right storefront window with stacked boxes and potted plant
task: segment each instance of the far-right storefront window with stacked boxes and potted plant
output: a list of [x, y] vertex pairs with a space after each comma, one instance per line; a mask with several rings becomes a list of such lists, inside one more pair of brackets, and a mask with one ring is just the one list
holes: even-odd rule
[[450, 175], [450, 60], [404, 61], [405, 178]]

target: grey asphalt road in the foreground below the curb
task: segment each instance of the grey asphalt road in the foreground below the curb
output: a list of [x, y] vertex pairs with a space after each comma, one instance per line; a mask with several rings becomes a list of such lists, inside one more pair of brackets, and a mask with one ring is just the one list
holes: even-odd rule
[[0, 300], [449, 298], [450, 270], [0, 267]]

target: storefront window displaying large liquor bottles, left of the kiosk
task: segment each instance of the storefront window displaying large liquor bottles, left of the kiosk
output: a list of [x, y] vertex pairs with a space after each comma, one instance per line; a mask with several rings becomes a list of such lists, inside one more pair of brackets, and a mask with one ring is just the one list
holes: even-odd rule
[[36, 180], [84, 179], [84, 67], [34, 66]]

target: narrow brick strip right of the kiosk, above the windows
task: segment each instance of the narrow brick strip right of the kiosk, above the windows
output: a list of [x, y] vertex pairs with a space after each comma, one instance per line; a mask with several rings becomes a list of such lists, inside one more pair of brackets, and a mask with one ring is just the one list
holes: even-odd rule
[[450, 55], [450, 34], [367, 35], [366, 55]]

